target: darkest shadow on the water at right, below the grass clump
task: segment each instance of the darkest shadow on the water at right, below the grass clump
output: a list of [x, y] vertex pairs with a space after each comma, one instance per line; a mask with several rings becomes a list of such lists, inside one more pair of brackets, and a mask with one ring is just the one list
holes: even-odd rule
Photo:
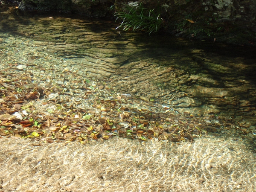
[[[179, 57], [176, 54], [177, 51], [180, 52], [180, 61], [175, 66], [180, 66], [189, 74], [197, 75], [205, 71], [217, 81], [220, 80], [220, 76], [242, 77], [256, 84], [256, 47], [185, 40], [168, 35], [134, 36], [134, 38], [137, 42], [143, 42], [149, 49], [143, 52], [143, 55], [148, 58], [168, 55], [172, 59], [172, 55]], [[223, 68], [214, 69], [214, 65], [210, 64], [215, 64], [216, 67], [223, 66]]]

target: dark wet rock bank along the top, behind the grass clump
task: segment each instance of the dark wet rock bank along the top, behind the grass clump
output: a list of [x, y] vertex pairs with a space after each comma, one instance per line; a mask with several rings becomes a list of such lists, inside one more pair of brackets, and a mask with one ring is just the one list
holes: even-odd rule
[[[218, 23], [233, 23], [237, 26], [256, 31], [256, 0], [22, 0], [21, 10], [59, 11], [78, 13], [90, 17], [112, 17], [116, 11], [122, 11], [125, 4], [143, 5], [149, 9], [159, 7], [163, 18], [170, 18], [176, 11], [183, 17], [195, 12]], [[179, 7], [179, 9], [177, 9]]]

